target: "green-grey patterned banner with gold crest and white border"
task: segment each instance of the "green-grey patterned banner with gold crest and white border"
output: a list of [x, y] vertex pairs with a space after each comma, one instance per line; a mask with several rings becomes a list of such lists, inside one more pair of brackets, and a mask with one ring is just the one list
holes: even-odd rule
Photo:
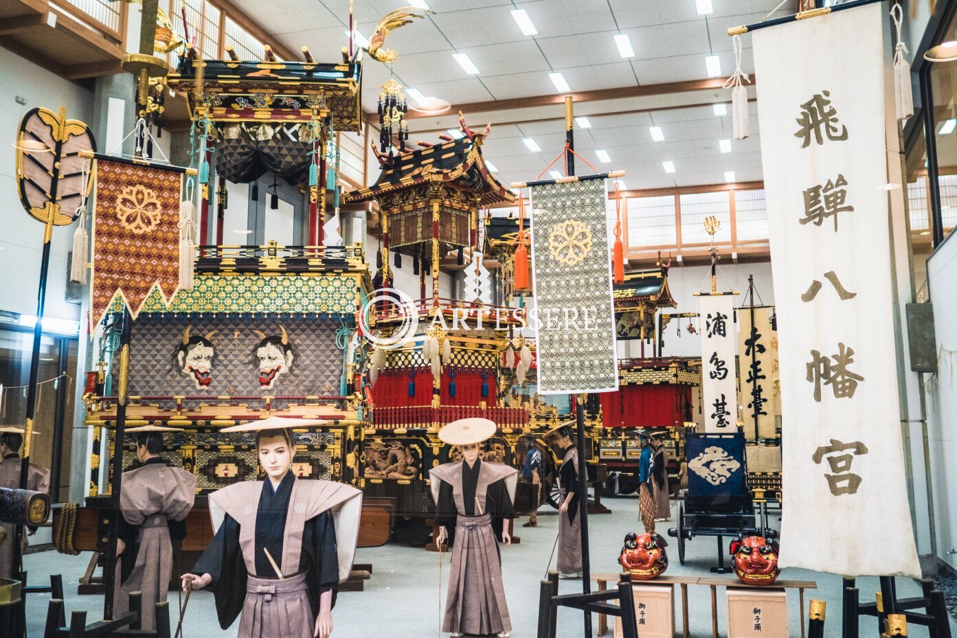
[[540, 394], [618, 389], [605, 180], [531, 187]]

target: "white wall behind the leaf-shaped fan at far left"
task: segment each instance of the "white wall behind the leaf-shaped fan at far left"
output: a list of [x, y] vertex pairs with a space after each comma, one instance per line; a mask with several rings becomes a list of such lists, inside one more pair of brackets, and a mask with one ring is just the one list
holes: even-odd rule
[[[40, 276], [43, 225], [20, 205], [16, 191], [13, 143], [20, 120], [36, 106], [58, 111], [66, 106], [67, 118], [89, 122], [93, 93], [0, 48], [0, 310], [36, 314], [36, 289]], [[25, 105], [16, 97], [26, 99]], [[64, 300], [67, 255], [73, 248], [75, 226], [54, 230], [46, 315], [79, 318], [79, 306]]]

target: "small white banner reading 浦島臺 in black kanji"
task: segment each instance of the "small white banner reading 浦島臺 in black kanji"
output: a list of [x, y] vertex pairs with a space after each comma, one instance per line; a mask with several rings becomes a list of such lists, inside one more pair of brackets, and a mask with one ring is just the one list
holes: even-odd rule
[[736, 432], [738, 385], [734, 357], [734, 296], [701, 294], [701, 412], [706, 432]]

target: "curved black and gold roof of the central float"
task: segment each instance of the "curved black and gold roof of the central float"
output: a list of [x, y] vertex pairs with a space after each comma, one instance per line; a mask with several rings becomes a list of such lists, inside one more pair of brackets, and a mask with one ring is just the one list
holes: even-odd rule
[[479, 206], [511, 204], [515, 195], [485, 165], [481, 143], [487, 134], [467, 128], [458, 140], [418, 148], [394, 157], [370, 187], [345, 194], [346, 204], [358, 204], [380, 195], [402, 192], [424, 184], [441, 184], [479, 195]]

